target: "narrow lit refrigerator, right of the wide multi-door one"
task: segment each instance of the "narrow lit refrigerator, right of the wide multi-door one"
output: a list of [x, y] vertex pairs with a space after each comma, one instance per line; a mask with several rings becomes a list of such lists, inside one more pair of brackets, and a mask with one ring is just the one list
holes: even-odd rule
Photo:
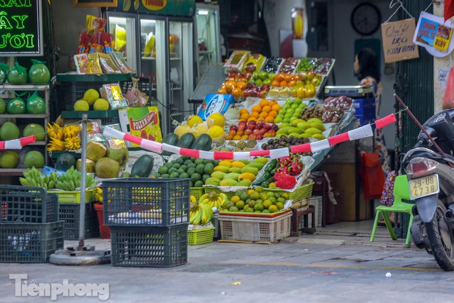
[[221, 29], [219, 26], [219, 6], [196, 3], [196, 69], [199, 83], [210, 65], [221, 61]]

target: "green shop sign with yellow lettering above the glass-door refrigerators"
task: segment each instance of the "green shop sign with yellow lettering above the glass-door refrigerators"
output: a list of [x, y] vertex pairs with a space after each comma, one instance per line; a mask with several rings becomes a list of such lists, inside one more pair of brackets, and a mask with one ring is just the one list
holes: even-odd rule
[[195, 0], [118, 0], [114, 11], [152, 13], [163, 16], [194, 16]]

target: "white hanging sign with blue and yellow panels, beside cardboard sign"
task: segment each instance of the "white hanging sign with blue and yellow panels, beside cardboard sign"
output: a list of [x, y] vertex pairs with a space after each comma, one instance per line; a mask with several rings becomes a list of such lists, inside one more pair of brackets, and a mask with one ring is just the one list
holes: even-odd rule
[[454, 25], [443, 17], [421, 12], [414, 32], [413, 42], [421, 45], [434, 57], [445, 57], [454, 49], [451, 43]]

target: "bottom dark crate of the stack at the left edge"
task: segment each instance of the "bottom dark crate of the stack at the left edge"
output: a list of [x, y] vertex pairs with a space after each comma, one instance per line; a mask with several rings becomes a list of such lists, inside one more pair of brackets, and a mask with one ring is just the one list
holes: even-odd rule
[[49, 262], [50, 255], [63, 248], [64, 224], [0, 224], [0, 262]]

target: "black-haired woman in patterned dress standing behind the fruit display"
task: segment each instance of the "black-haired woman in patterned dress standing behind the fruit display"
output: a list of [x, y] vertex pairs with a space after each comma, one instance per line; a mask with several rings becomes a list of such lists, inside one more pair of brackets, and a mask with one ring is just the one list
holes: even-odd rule
[[[355, 55], [355, 62], [353, 64], [356, 75], [360, 85], [371, 85], [375, 95], [375, 119], [380, 119], [380, 105], [382, 104], [382, 83], [380, 82], [380, 68], [378, 66], [378, 58], [375, 52], [370, 48], [362, 48]], [[384, 143], [384, 136], [381, 129], [374, 129], [374, 142], [375, 153], [378, 153], [380, 162], [382, 163], [382, 170], [384, 173], [385, 183], [382, 199], [380, 202], [387, 206], [392, 205], [394, 197], [392, 196], [392, 188], [394, 187], [395, 173], [391, 172], [390, 158], [386, 144]], [[391, 190], [389, 192], [389, 190]], [[390, 193], [390, 196], [389, 196]], [[389, 220], [394, 225], [394, 214], [389, 214]], [[384, 220], [378, 222], [379, 226], [385, 226]]]

